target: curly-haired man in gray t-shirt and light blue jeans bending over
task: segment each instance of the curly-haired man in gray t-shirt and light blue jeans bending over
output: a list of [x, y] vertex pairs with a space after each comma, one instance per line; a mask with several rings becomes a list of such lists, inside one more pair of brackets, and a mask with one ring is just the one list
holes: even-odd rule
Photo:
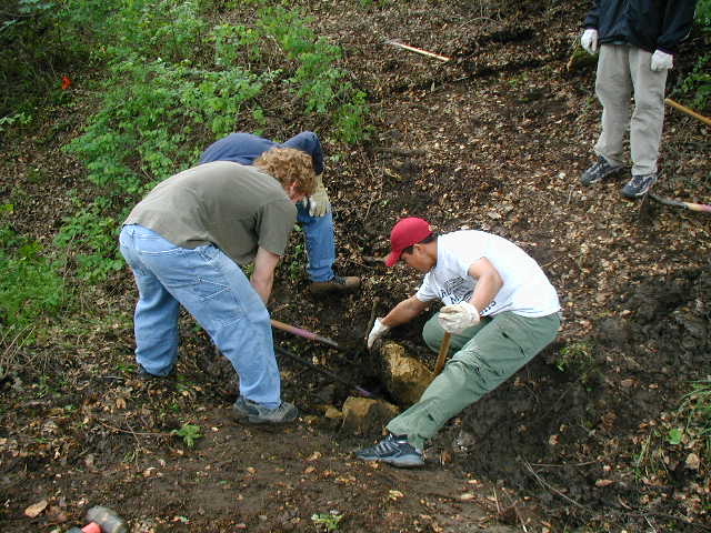
[[[159, 183], [123, 222], [121, 253], [139, 290], [136, 360], [143, 378], [172, 373], [182, 304], [240, 378], [233, 411], [252, 423], [296, 419], [281, 401], [267, 301], [297, 220], [313, 192], [308, 154], [266, 153], [252, 167], [206, 163]], [[253, 262], [250, 280], [240, 265]]]

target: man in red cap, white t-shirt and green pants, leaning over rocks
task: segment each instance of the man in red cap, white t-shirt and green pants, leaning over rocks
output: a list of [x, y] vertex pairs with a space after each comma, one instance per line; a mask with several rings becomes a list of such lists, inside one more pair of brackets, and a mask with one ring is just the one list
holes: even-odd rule
[[390, 249], [388, 266], [402, 260], [425, 275], [413, 296], [375, 320], [368, 348], [441, 300], [444, 306], [424, 324], [422, 336], [438, 352], [444, 332], [451, 333], [454, 355], [419, 402], [390, 421], [389, 435], [356, 455], [393, 466], [420, 466], [425, 441], [449, 419], [553, 341], [560, 304], [538, 263], [491, 233], [467, 230], [438, 237], [427, 221], [411, 217], [393, 227]]

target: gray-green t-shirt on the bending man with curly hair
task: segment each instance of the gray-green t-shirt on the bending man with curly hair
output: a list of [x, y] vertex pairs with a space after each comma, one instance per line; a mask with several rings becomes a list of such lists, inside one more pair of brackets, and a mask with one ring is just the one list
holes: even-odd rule
[[140, 224], [177, 247], [212, 243], [239, 264], [261, 247], [283, 255], [297, 208], [283, 187], [254, 167], [214, 161], [168, 178], [123, 224]]

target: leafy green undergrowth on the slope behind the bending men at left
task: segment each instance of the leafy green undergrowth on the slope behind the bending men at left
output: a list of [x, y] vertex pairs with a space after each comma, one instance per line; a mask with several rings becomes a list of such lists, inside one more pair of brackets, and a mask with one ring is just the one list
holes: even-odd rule
[[[254, 12], [249, 26], [209, 22], [247, 6]], [[194, 164], [216, 139], [262, 133], [261, 101], [279, 95], [301, 107], [324, 138], [356, 143], [368, 137], [367, 97], [340, 67], [340, 48], [288, 6], [9, 0], [0, 13], [0, 83], [13, 90], [0, 95], [0, 135], [27, 131], [51, 109], [74, 109], [80, 84], [96, 112], [63, 147], [83, 162], [88, 180], [53, 242], [68, 261], [47, 259], [57, 252], [3, 227], [2, 324], [22, 328], [54, 314], [66, 301], [60, 268], [89, 283], [123, 268], [117, 237], [128, 209]], [[92, 78], [82, 74], [89, 70]]]

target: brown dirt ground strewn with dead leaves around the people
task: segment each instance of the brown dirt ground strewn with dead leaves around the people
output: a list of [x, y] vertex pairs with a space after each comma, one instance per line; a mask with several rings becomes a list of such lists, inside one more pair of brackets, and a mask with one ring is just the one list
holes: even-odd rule
[[[377, 364], [362, 345], [368, 324], [418, 285], [417, 275], [372, 259], [388, 251], [402, 215], [517, 242], [561, 296], [554, 345], [451, 421], [424, 469], [354, 461], [352, 450], [378, 435], [353, 435], [324, 415], [352, 390], [288, 358], [284, 398], [302, 410], [299, 423], [234, 424], [233, 374], [188, 316], [177, 380], [134, 379], [136, 294], [124, 271], [84, 291], [77, 318], [27, 349], [28, 364], [0, 385], [2, 531], [63, 531], [94, 504], [116, 509], [137, 532], [326, 531], [338, 516], [338, 531], [349, 532], [711, 530], [708, 435], [687, 425], [684, 404], [692, 383], [711, 374], [711, 218], [625, 201], [622, 182], [579, 184], [600, 115], [594, 67], [570, 62], [587, 7], [306, 7], [314, 29], [343, 48], [343, 68], [375, 112], [369, 142], [324, 139], [337, 266], [363, 276], [363, 289], [316, 299], [302, 271], [282, 269], [273, 318], [346, 349], [283, 332], [277, 342], [377, 390]], [[702, 46], [692, 36], [679, 70]], [[673, 74], [670, 87], [678, 81]], [[318, 118], [294, 117], [289, 102], [276, 98], [271, 109], [271, 137], [319, 132]], [[83, 171], [59, 147], [81, 120], [53, 117], [47, 131], [2, 147], [2, 194], [23, 193], [17, 230], [47, 242], [70, 212], [66, 192]], [[708, 127], [668, 110], [654, 191], [709, 203], [710, 144]], [[422, 320], [391, 336], [432, 364]]]

